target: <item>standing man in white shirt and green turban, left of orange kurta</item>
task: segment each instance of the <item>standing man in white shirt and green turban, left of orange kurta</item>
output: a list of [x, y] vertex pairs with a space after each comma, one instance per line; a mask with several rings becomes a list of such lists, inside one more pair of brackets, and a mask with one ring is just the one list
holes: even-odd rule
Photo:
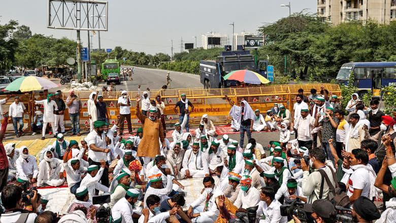
[[[96, 120], [93, 122], [93, 131], [90, 132], [86, 138], [88, 150], [88, 163], [89, 165], [101, 166], [101, 162], [106, 162], [106, 168], [103, 171], [101, 181], [105, 186], [109, 186], [109, 162], [107, 160], [107, 153], [110, 149], [107, 148], [106, 134], [104, 132], [106, 122]], [[111, 142], [110, 142], [111, 143]]]

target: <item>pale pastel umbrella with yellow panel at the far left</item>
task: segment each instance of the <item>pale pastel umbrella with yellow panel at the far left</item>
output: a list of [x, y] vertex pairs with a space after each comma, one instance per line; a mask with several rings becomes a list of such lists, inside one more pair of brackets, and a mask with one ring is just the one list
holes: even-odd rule
[[58, 84], [48, 80], [47, 78], [37, 76], [20, 77], [11, 82], [5, 89], [8, 91], [26, 92], [32, 90], [43, 90], [58, 87]]

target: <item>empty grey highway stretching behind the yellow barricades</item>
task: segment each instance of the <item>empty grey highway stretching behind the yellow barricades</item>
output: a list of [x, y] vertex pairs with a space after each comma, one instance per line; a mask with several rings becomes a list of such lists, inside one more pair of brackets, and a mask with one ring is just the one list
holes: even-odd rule
[[[132, 68], [131, 66], [121, 66], [121, 68]], [[203, 87], [198, 75], [185, 74], [181, 72], [171, 71], [171, 86], [169, 88], [195, 88]], [[135, 74], [132, 76], [133, 81], [121, 81], [117, 85], [118, 89], [127, 91], [138, 90], [138, 85], [142, 85], [141, 89], [160, 89], [163, 85], [167, 84], [167, 71], [158, 69], [146, 69], [135, 67]]]

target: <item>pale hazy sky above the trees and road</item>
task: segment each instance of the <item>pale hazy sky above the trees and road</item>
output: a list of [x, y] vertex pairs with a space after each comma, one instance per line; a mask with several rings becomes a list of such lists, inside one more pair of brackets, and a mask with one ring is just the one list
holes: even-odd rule
[[[154, 54], [170, 54], [171, 39], [174, 52], [180, 52], [180, 39], [201, 46], [201, 35], [210, 31], [232, 37], [235, 33], [256, 33], [259, 26], [274, 22], [289, 14], [288, 0], [168, 0], [133, 1], [109, 0], [109, 30], [101, 32], [101, 48], [122, 48]], [[317, 0], [292, 0], [291, 13], [307, 9], [316, 12]], [[32, 33], [67, 37], [76, 40], [76, 31], [47, 28], [47, 0], [2, 1], [0, 23], [18, 20], [30, 27]], [[98, 47], [97, 36], [92, 47]], [[81, 31], [86, 45], [87, 31]]]

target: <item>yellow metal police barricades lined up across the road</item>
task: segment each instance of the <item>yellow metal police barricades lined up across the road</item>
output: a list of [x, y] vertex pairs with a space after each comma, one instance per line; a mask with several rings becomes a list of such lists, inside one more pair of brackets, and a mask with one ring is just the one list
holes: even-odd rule
[[[178, 114], [175, 113], [175, 105], [180, 100], [180, 95], [185, 93], [187, 99], [194, 105], [194, 110], [190, 114], [190, 124], [196, 125], [201, 121], [203, 114], [208, 114], [215, 124], [226, 124], [230, 122], [228, 115], [231, 106], [225, 100], [227, 95], [236, 105], [240, 105], [242, 99], [246, 100], [253, 110], [259, 109], [261, 113], [265, 114], [267, 110], [274, 106], [274, 103], [283, 104], [287, 109], [292, 112], [292, 105], [295, 102], [295, 95], [298, 89], [304, 89], [304, 94], [308, 95], [311, 88], [320, 91], [322, 84], [297, 84], [297, 85], [270, 85], [259, 87], [244, 87], [244, 88], [220, 88], [220, 89], [203, 89], [203, 88], [179, 88], [179, 89], [159, 89], [150, 90], [150, 100], [155, 100], [157, 95], [161, 96], [161, 100], [165, 104], [164, 115], [168, 124], [178, 122]], [[336, 84], [324, 84], [325, 89], [328, 89], [330, 94], [338, 95], [341, 97], [341, 89]], [[80, 129], [89, 130], [89, 117], [87, 110], [87, 101], [92, 91], [76, 91], [75, 94], [81, 100], [82, 109], [80, 112]], [[143, 93], [143, 90], [142, 90]], [[121, 97], [120, 91], [106, 91], [101, 93], [104, 101], [108, 106], [110, 116], [110, 124], [114, 124], [119, 113], [119, 106], [117, 105], [118, 98]], [[136, 117], [136, 97], [137, 91], [128, 91], [127, 94], [130, 98], [131, 108], [131, 122], [133, 128], [141, 125]], [[44, 93], [31, 93], [18, 95], [21, 102], [24, 103], [27, 113], [23, 116], [23, 121], [30, 129], [30, 123], [33, 121], [34, 112], [36, 110], [43, 111], [40, 105], [34, 106], [31, 101], [44, 100], [46, 94]], [[68, 98], [68, 93], [62, 94], [62, 99], [65, 101]], [[1, 95], [0, 99], [4, 99], [6, 95]], [[3, 111], [8, 111], [14, 99], [11, 98], [3, 106]], [[29, 103], [30, 102], [30, 103]], [[141, 109], [141, 108], [140, 108]], [[178, 110], [178, 108], [177, 108]], [[67, 129], [71, 128], [69, 112], [64, 113], [65, 126]], [[12, 120], [10, 119], [10, 122]], [[126, 121], [125, 121], [126, 124]], [[12, 130], [12, 126], [8, 128]]]

